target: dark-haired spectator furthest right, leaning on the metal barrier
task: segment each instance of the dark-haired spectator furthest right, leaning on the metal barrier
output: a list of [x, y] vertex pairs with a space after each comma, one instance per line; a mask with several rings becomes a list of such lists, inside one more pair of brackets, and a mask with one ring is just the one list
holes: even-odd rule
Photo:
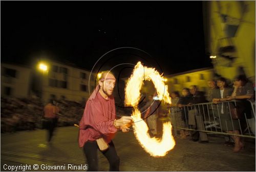
[[[252, 99], [253, 95], [255, 94], [255, 91], [253, 90], [253, 85], [248, 81], [248, 79], [244, 75], [237, 76], [234, 79], [233, 82], [234, 90], [231, 94], [231, 96], [227, 97], [227, 101], [231, 100], [240, 100], [242, 102], [239, 102], [238, 104], [241, 104], [240, 106], [245, 107], [245, 111], [243, 114], [246, 114], [246, 117], [243, 115], [242, 123], [246, 126], [248, 122], [248, 126], [250, 128], [250, 131], [255, 136], [255, 114], [252, 112], [252, 107], [248, 99]], [[247, 122], [246, 122], [247, 120]]]

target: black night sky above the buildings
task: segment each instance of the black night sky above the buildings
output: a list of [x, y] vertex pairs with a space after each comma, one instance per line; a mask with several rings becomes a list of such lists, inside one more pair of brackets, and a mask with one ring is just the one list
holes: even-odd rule
[[1, 62], [47, 57], [91, 70], [123, 46], [150, 54], [165, 75], [211, 66], [202, 2], [1, 1]]

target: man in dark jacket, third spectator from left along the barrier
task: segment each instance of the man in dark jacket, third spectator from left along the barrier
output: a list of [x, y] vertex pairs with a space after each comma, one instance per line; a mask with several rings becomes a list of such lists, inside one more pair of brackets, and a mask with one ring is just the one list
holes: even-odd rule
[[[203, 123], [203, 105], [195, 105], [200, 103], [206, 103], [206, 99], [204, 93], [202, 91], [198, 91], [196, 85], [191, 85], [189, 87], [189, 91], [192, 94], [192, 101], [189, 105], [191, 105], [191, 110], [188, 111], [188, 125], [192, 126], [194, 130], [202, 130], [205, 131], [204, 123]], [[204, 132], [193, 131], [191, 132], [191, 136], [193, 141], [199, 141], [200, 143], [207, 143], [208, 137]]]

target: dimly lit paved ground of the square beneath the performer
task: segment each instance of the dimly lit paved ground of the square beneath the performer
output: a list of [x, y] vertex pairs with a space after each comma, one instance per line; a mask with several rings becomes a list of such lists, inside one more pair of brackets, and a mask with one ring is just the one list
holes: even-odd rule
[[[4, 165], [81, 165], [86, 162], [77, 143], [78, 128], [63, 127], [55, 132], [51, 146], [44, 148], [46, 131], [22, 131], [1, 134], [1, 171]], [[175, 138], [175, 148], [166, 156], [154, 158], [147, 154], [135, 139], [133, 132], [118, 132], [114, 138], [122, 171], [255, 171], [255, 140], [246, 139], [245, 149], [233, 153], [224, 146], [224, 138], [209, 137], [209, 143]], [[98, 153], [99, 170], [108, 171], [108, 161]], [[6, 167], [6, 166], [5, 166]], [[22, 171], [22, 170], [19, 170]], [[36, 170], [34, 170], [36, 171]], [[59, 171], [47, 169], [47, 171]], [[74, 169], [73, 171], [84, 171]]]

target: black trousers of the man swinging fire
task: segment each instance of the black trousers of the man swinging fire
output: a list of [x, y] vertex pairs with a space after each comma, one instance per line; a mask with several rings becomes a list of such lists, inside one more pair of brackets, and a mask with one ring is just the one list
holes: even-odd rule
[[[110, 171], [119, 171], [119, 157], [116, 153], [115, 145], [111, 141], [109, 149], [101, 151], [101, 153], [108, 159], [110, 163]], [[96, 141], [87, 141], [83, 146], [83, 152], [86, 154], [88, 171], [98, 171], [98, 157], [97, 150], [99, 150]]]

